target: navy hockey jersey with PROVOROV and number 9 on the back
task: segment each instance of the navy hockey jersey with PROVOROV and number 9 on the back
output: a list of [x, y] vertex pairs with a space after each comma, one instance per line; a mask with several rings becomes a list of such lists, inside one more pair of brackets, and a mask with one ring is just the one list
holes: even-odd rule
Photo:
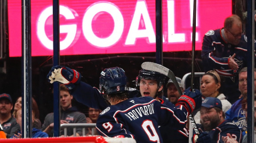
[[135, 97], [106, 108], [96, 128], [106, 137], [123, 135], [137, 142], [162, 142], [159, 125], [183, 129], [187, 111], [183, 106], [168, 108], [151, 97]]

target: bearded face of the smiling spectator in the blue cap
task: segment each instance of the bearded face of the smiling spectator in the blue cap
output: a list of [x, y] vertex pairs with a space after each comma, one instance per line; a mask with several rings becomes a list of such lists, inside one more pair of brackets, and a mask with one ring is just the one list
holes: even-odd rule
[[216, 128], [220, 122], [222, 112], [217, 112], [214, 108], [201, 107], [200, 122], [206, 131], [211, 131]]

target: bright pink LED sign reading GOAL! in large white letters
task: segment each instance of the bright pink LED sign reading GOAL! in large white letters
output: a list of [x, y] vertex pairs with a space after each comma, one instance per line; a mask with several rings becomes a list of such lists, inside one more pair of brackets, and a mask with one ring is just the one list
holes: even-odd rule
[[[198, 0], [196, 50], [221, 28], [231, 2]], [[163, 51], [192, 49], [193, 0], [163, 1]], [[9, 56], [21, 56], [21, 2], [8, 1]], [[32, 56], [53, 54], [52, 1], [31, 1]], [[155, 51], [155, 1], [60, 0], [61, 55]]]

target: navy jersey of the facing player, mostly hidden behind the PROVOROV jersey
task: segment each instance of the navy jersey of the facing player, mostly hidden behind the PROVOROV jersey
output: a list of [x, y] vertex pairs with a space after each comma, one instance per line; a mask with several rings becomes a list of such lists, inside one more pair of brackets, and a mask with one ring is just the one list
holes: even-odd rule
[[[128, 93], [130, 98], [140, 96], [138, 90], [131, 90]], [[91, 85], [88, 85], [84, 82], [80, 82], [80, 84], [76, 85], [76, 87], [72, 90], [72, 95], [77, 101], [91, 108], [104, 110], [109, 106], [97, 88], [93, 88]], [[160, 101], [162, 104], [168, 106], [169, 108], [175, 107], [169, 100], [160, 99]], [[182, 130], [177, 131], [166, 125], [161, 126], [159, 130], [163, 137], [163, 142], [188, 142], [187, 128], [183, 128]]]

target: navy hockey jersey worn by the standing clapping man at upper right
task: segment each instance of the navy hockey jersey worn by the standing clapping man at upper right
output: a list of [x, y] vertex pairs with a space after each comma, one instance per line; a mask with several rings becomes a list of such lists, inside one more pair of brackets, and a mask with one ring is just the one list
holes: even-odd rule
[[[233, 70], [228, 66], [228, 58], [236, 54], [235, 61], [239, 69]], [[238, 45], [226, 43], [221, 36], [221, 29], [208, 31], [203, 38], [202, 60], [204, 71], [215, 70], [225, 77], [221, 84], [223, 94], [230, 103], [238, 100], [241, 93], [238, 90], [238, 73], [243, 67], [247, 67], [247, 37], [241, 36]]]

